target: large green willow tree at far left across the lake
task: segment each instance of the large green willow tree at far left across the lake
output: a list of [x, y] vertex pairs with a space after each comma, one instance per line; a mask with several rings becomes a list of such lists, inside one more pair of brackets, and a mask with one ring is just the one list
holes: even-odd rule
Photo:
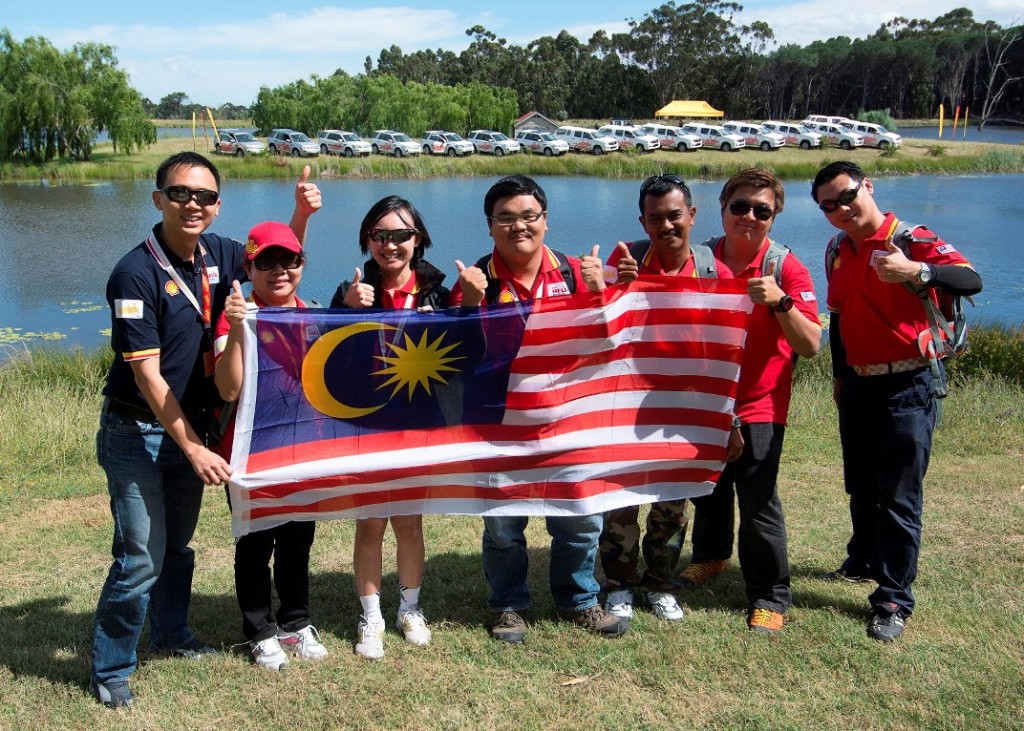
[[0, 31], [0, 161], [87, 160], [104, 130], [126, 153], [157, 139], [113, 48], [80, 43], [61, 52], [45, 38], [18, 43]]

